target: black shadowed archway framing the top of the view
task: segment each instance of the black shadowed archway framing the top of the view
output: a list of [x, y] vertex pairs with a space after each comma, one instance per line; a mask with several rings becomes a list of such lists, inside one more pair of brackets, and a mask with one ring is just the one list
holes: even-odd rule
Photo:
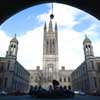
[[0, 24], [21, 10], [37, 4], [49, 2], [70, 5], [100, 19], [99, 0], [0, 0]]

